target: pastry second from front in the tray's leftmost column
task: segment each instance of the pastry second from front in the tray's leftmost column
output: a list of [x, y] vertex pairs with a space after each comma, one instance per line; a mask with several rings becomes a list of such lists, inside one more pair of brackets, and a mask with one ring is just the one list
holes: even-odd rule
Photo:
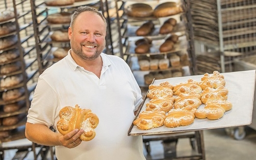
[[173, 101], [169, 99], [152, 99], [146, 104], [146, 111], [160, 110], [168, 112], [173, 108]]

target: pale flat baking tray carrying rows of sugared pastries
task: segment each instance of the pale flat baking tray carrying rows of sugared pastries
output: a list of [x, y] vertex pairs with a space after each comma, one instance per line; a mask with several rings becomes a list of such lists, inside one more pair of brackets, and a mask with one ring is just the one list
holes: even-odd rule
[[[222, 118], [217, 120], [199, 119], [195, 118], [194, 123], [188, 126], [179, 126], [175, 128], [168, 128], [161, 126], [150, 130], [139, 130], [137, 126], [131, 124], [128, 130], [128, 136], [139, 135], [155, 135], [155, 134], [167, 134], [177, 132], [188, 132], [205, 129], [226, 128], [234, 126], [250, 125], [252, 123], [253, 102], [255, 92], [255, 78], [256, 70], [236, 71], [221, 73], [225, 77], [226, 88], [229, 90], [228, 100], [232, 103], [233, 107], [230, 111], [225, 112]], [[154, 85], [158, 85], [164, 81], [175, 85], [181, 82], [186, 82], [191, 78], [196, 81], [201, 81], [202, 75], [184, 76], [167, 78], [161, 80], [155, 80]], [[149, 102], [149, 98], [145, 98], [143, 104], [139, 108], [138, 114], [145, 111], [146, 104]], [[198, 109], [204, 107], [202, 104]]]

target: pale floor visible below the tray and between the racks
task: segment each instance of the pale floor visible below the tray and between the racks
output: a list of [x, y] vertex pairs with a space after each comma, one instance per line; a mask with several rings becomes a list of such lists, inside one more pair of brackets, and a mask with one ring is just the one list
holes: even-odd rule
[[[241, 140], [236, 140], [229, 136], [225, 129], [204, 130], [205, 160], [256, 160], [256, 131], [248, 126], [245, 127], [246, 136]], [[20, 144], [30, 144], [26, 139], [4, 143], [3, 146], [15, 146]], [[163, 159], [164, 150], [162, 142], [151, 141], [151, 154], [144, 154], [147, 160]], [[191, 156], [196, 153], [190, 145], [189, 138], [181, 138], [177, 143], [177, 157]], [[4, 152], [4, 160], [12, 160], [16, 150]], [[25, 160], [34, 160], [33, 153], [29, 152]], [[40, 160], [40, 157], [38, 158]], [[51, 160], [50, 158], [48, 160]]]

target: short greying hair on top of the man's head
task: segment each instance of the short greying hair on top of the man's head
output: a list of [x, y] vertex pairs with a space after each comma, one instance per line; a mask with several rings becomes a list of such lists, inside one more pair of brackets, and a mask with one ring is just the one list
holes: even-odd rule
[[100, 11], [98, 11], [97, 9], [95, 8], [92, 8], [92, 7], [89, 7], [89, 6], [79, 6], [77, 8], [77, 10], [74, 12], [74, 14], [71, 16], [71, 23], [70, 23], [70, 27], [72, 28], [74, 22], [76, 21], [77, 19], [77, 16], [82, 13], [82, 12], [93, 12], [95, 13], [96, 15], [99, 15], [103, 22], [105, 23], [106, 27], [107, 27], [107, 22], [106, 22], [106, 19], [104, 18], [104, 16], [102, 15], [102, 13]]

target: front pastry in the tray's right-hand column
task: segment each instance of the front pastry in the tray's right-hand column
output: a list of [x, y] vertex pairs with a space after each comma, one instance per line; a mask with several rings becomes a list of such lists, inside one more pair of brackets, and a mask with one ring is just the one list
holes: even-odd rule
[[197, 110], [195, 116], [197, 118], [219, 119], [225, 113], [225, 109], [216, 104], [207, 104], [204, 109]]

